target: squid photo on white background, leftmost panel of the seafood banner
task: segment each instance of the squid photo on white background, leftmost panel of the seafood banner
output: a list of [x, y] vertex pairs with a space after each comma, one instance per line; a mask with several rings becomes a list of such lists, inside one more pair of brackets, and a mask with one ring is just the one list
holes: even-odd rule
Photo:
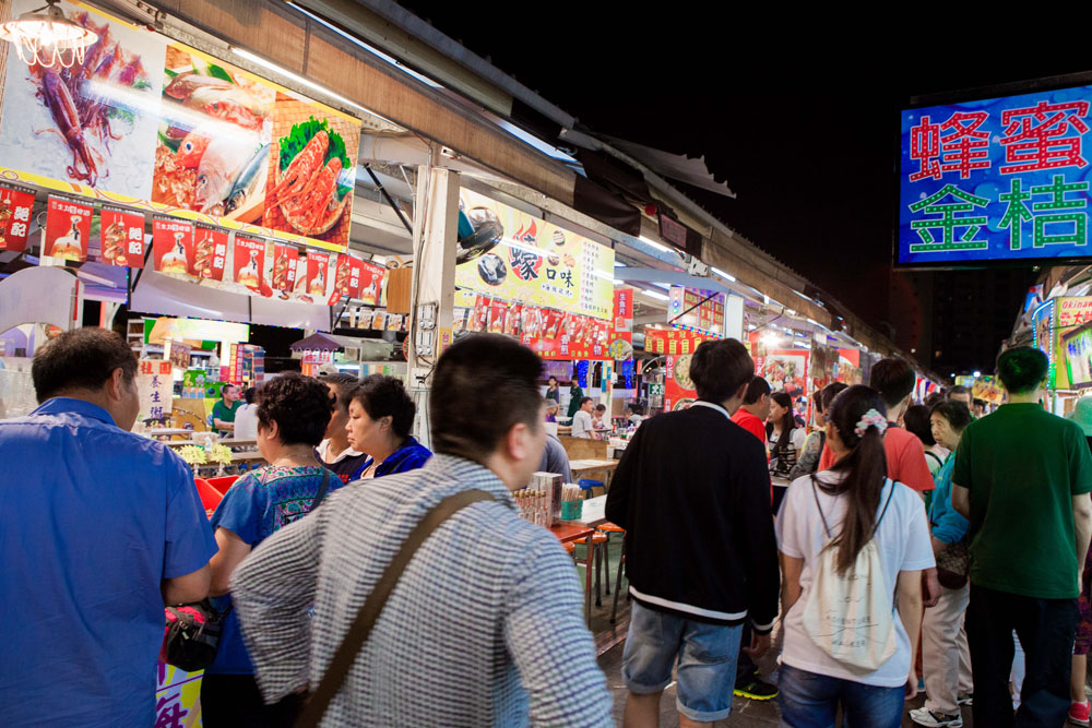
[[[39, 0], [13, 0], [11, 17]], [[142, 200], [152, 192], [164, 38], [86, 5], [57, 5], [98, 35], [70, 69], [28, 67], [9, 55], [0, 166]]]

